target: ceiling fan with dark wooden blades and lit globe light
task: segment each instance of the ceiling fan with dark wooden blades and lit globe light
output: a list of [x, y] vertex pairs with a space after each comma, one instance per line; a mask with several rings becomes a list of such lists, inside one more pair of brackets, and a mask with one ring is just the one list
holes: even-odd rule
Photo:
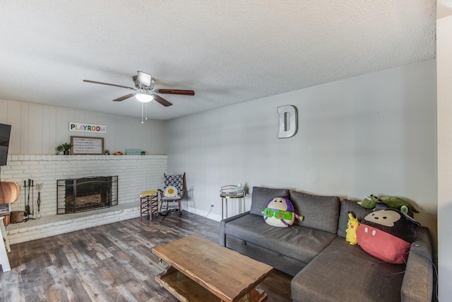
[[150, 74], [146, 74], [143, 71], [137, 71], [137, 75], [133, 76], [132, 80], [133, 83], [135, 83], [135, 88], [90, 80], [83, 81], [87, 83], [121, 87], [136, 91], [135, 93], [129, 93], [128, 95], [123, 95], [120, 98], [115, 98], [113, 100], [114, 102], [120, 102], [121, 100], [126, 100], [128, 98], [135, 96], [136, 99], [139, 100], [141, 103], [148, 103], [151, 100], [156, 100], [158, 103], [167, 107], [171, 106], [172, 103], [169, 103], [167, 100], [165, 100], [165, 98], [162, 98], [159, 94], [195, 95], [195, 92], [190, 90], [154, 88], [155, 80], [153, 79], [152, 76], [150, 76]]

